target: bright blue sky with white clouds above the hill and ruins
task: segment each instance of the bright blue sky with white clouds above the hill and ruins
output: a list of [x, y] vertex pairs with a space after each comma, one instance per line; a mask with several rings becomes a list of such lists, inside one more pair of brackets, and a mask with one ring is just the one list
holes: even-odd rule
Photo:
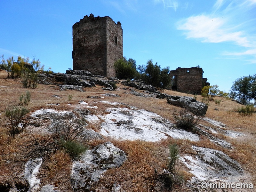
[[220, 90], [256, 73], [256, 0], [1, 0], [0, 55], [72, 68], [72, 26], [90, 13], [123, 28], [124, 56], [196, 67]]

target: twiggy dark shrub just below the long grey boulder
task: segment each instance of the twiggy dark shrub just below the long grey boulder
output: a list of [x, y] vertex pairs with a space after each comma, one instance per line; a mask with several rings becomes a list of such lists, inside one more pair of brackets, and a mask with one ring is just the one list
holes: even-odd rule
[[189, 132], [196, 132], [196, 124], [202, 118], [204, 118], [203, 116], [196, 116], [193, 112], [188, 111], [188, 109], [182, 109], [179, 112], [174, 109], [172, 112], [172, 116], [174, 118], [176, 127]]

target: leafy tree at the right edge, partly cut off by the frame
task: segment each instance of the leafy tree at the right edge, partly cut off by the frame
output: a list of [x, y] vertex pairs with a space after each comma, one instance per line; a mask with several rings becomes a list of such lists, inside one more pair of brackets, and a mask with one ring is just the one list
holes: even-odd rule
[[254, 100], [254, 105], [256, 105], [256, 74], [236, 79], [231, 87], [230, 97], [246, 105]]

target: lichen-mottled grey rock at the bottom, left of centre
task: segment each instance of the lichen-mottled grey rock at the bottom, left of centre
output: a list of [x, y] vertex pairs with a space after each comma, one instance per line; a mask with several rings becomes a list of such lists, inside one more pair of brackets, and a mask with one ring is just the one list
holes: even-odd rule
[[111, 142], [86, 151], [80, 161], [74, 161], [71, 170], [71, 185], [74, 191], [91, 191], [93, 184], [109, 168], [120, 167], [126, 160], [124, 151]]

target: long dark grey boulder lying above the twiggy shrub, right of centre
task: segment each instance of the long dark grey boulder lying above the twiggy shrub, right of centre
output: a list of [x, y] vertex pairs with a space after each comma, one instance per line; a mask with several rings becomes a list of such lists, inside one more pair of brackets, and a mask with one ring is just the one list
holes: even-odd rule
[[188, 96], [172, 96], [170, 99], [167, 99], [167, 103], [187, 108], [189, 111], [200, 116], [204, 116], [208, 108], [205, 103]]

